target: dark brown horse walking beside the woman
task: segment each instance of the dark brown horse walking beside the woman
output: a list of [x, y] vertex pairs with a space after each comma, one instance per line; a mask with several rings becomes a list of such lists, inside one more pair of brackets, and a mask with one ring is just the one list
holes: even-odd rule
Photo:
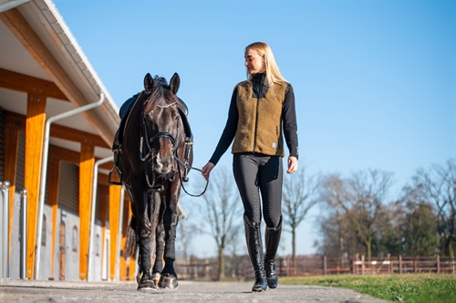
[[138, 290], [179, 286], [173, 266], [177, 204], [182, 176], [185, 180], [193, 161], [176, 97], [180, 83], [177, 73], [170, 84], [165, 78], [145, 76], [144, 90], [125, 121], [117, 155], [132, 211], [124, 256], [136, 256], [139, 248]]

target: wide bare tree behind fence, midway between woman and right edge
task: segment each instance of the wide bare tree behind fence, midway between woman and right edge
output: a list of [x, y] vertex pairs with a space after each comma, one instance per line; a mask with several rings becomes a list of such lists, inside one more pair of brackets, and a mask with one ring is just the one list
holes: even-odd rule
[[368, 170], [353, 173], [351, 178], [342, 180], [331, 175], [324, 181], [324, 197], [328, 204], [340, 207], [366, 246], [368, 260], [372, 256], [372, 242], [379, 229], [388, 220], [385, 200], [391, 186], [390, 172]]

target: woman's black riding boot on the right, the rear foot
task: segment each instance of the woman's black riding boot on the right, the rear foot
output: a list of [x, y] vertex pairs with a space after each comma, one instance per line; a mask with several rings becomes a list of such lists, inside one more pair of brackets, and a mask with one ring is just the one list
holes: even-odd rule
[[266, 253], [264, 254], [264, 270], [266, 272], [267, 286], [269, 288], [277, 287], [279, 277], [275, 270], [275, 254], [280, 242], [282, 234], [282, 216], [280, 216], [279, 225], [275, 228], [266, 226], [264, 231], [264, 243], [266, 245]]

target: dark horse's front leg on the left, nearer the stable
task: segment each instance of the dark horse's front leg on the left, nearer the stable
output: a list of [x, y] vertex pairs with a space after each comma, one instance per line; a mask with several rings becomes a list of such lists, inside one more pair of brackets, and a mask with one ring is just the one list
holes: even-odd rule
[[157, 287], [155, 287], [155, 284], [153, 283], [150, 271], [153, 250], [153, 226], [149, 219], [148, 194], [145, 193], [140, 186], [137, 186], [136, 189], [133, 188], [131, 192], [135, 197], [137, 214], [139, 214], [137, 235], [139, 236], [140, 255], [138, 256], [138, 263], [140, 272], [142, 272], [142, 277], [140, 278], [138, 290], [156, 290]]

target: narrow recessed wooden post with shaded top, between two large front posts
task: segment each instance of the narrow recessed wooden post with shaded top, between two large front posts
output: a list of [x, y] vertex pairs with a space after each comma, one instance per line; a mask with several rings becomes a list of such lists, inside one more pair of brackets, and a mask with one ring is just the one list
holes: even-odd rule
[[54, 263], [55, 263], [55, 249], [56, 249], [56, 235], [57, 235], [57, 212], [58, 212], [58, 187], [60, 176], [60, 161], [51, 158], [48, 161], [47, 168], [47, 204], [52, 209], [52, 242], [51, 242], [51, 276], [54, 277]]

